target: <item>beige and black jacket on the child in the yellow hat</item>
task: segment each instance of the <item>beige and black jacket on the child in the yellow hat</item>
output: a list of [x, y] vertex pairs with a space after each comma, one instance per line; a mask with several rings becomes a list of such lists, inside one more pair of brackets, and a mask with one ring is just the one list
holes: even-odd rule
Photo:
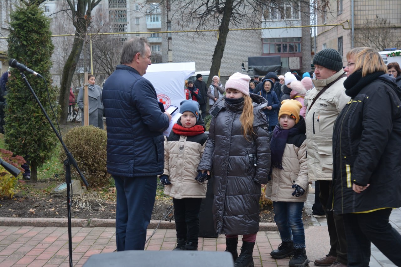
[[[309, 155], [308, 155], [309, 156]], [[298, 148], [286, 144], [282, 158], [284, 170], [273, 168], [271, 180], [266, 185], [266, 198], [272, 201], [305, 202], [308, 197], [308, 166], [306, 159], [306, 140]], [[292, 196], [293, 184], [302, 187], [306, 192], [302, 196]]]

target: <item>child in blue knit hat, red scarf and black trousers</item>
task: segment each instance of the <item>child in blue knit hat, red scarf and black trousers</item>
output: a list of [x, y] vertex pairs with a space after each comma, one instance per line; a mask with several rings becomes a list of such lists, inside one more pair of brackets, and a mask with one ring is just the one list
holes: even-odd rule
[[199, 103], [184, 100], [180, 105], [182, 115], [170, 136], [164, 138], [164, 172], [160, 182], [164, 184], [164, 194], [173, 198], [177, 232], [174, 250], [198, 250], [199, 210], [202, 198], [206, 197], [207, 182], [195, 178], [208, 136], [199, 117]]

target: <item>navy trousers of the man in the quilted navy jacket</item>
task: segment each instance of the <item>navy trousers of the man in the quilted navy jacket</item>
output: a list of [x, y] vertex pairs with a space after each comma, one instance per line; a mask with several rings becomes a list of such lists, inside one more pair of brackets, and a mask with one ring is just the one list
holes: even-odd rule
[[156, 198], [157, 176], [113, 178], [117, 190], [117, 251], [144, 250], [146, 228], [150, 223]]

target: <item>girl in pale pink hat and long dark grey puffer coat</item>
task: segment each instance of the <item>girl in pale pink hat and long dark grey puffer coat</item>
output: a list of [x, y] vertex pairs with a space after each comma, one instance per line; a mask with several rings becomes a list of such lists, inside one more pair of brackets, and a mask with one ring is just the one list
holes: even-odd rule
[[[254, 265], [261, 184], [267, 183], [270, 167], [267, 101], [249, 94], [250, 80], [234, 73], [227, 81], [226, 96], [210, 110], [209, 138], [198, 166], [198, 171], [213, 171], [213, 220], [217, 232], [226, 235], [235, 267]], [[239, 257], [238, 235], [243, 235]]]

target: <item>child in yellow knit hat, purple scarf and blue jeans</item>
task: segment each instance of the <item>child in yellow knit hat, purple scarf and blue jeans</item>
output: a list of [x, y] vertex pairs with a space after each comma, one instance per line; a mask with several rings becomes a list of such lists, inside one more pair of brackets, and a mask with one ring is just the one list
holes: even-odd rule
[[271, 257], [294, 255], [289, 266], [306, 266], [305, 231], [302, 208], [308, 196], [305, 121], [300, 116], [302, 104], [294, 99], [281, 102], [279, 123], [270, 140], [271, 180], [266, 197], [273, 201], [274, 220], [282, 243]]

